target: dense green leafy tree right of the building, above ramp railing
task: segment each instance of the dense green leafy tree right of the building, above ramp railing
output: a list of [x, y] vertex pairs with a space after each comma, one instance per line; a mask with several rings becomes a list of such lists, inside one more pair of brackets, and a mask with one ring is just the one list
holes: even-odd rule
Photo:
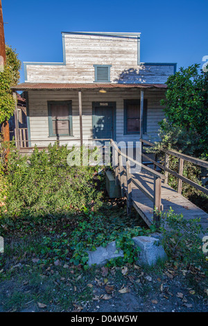
[[163, 148], [208, 159], [208, 72], [199, 65], [180, 68], [168, 77], [164, 112], [160, 123]]

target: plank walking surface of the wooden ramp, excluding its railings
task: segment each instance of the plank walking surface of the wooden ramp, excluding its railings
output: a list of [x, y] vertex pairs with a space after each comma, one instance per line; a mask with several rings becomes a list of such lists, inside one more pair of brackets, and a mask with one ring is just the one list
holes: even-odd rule
[[[154, 177], [141, 171], [140, 173], [132, 174], [132, 178], [135, 178], [141, 185], [143, 185], [150, 194], [154, 195]], [[125, 182], [125, 191], [127, 191], [127, 185]], [[181, 194], [178, 194], [169, 185], [161, 184], [161, 203], [163, 205], [163, 211], [166, 212], [170, 207], [174, 210], [175, 214], [182, 214], [185, 219], [200, 218], [203, 229], [208, 228], [208, 214], [202, 209], [191, 203], [187, 198], [184, 198]], [[153, 223], [153, 201], [150, 200], [140, 189], [138, 189], [132, 183], [132, 205], [137, 209], [137, 212], [141, 215], [144, 221], [150, 226]]]

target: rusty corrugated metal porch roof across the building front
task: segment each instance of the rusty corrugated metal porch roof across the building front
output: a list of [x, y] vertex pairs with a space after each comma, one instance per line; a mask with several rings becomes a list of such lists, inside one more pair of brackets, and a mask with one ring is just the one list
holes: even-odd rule
[[16, 91], [26, 91], [29, 89], [124, 89], [124, 88], [166, 88], [166, 84], [111, 84], [111, 83], [21, 83], [12, 87]]

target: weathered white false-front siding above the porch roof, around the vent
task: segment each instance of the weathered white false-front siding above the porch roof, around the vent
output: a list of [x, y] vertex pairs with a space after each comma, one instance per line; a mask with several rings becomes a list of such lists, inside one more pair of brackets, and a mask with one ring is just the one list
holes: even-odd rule
[[174, 65], [139, 64], [137, 37], [64, 33], [64, 63], [25, 65], [31, 83], [94, 83], [94, 65], [112, 65], [112, 83], [166, 83]]

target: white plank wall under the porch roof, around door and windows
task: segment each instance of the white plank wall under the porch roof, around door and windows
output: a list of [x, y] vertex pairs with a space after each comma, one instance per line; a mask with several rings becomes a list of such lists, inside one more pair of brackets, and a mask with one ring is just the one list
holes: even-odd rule
[[[29, 91], [28, 107], [31, 129], [31, 145], [46, 146], [53, 143], [56, 138], [49, 137], [49, 120], [47, 101], [72, 101], [72, 128], [73, 137], [60, 137], [71, 139], [68, 144], [79, 144], [80, 124], [78, 114], [78, 91]], [[140, 91], [110, 90], [106, 94], [98, 91], [85, 90], [82, 92], [83, 101], [83, 140], [92, 138], [92, 102], [116, 102], [116, 141], [139, 141], [140, 135], [124, 135], [123, 100], [140, 98]], [[147, 134], [144, 139], [157, 139], [158, 122], [163, 118], [162, 107], [159, 101], [164, 98], [164, 89], [150, 89], [144, 91], [144, 98], [148, 101], [147, 110]]]

